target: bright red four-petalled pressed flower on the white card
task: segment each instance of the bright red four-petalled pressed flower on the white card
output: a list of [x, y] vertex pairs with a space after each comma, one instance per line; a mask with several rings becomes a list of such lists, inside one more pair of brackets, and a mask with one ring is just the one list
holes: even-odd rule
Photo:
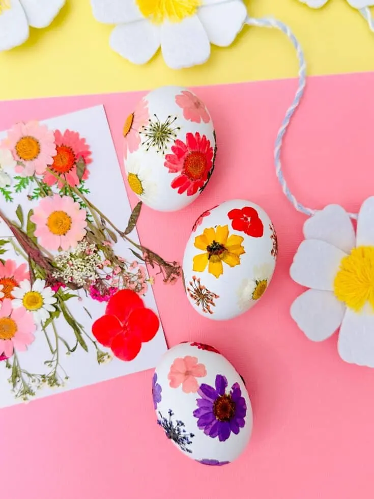
[[157, 315], [145, 308], [139, 295], [124, 289], [110, 298], [105, 315], [94, 322], [92, 333], [113, 355], [122, 361], [132, 361], [141, 344], [156, 336], [159, 325]]

